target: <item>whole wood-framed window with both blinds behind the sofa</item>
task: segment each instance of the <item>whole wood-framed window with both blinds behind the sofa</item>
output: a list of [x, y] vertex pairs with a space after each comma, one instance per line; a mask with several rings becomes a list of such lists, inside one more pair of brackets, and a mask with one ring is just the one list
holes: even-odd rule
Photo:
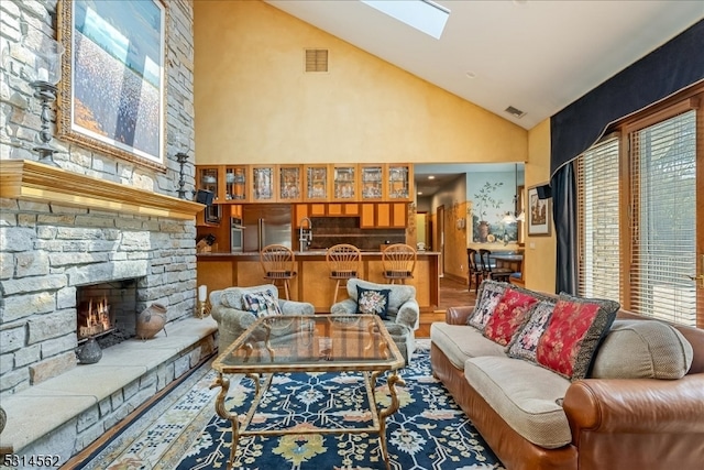
[[704, 327], [703, 91], [612, 125], [576, 160], [580, 295]]

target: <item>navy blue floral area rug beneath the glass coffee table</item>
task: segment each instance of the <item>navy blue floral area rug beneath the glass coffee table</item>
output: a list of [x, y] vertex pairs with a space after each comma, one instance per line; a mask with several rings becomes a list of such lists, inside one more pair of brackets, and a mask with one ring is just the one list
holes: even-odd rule
[[[392, 469], [504, 469], [464, 413], [430, 370], [428, 341], [419, 341], [410, 367], [399, 371], [405, 386], [396, 386], [399, 409], [389, 416], [387, 447]], [[233, 381], [234, 382], [234, 381]], [[230, 386], [228, 409], [246, 413], [254, 395], [250, 379]], [[386, 381], [377, 381], [376, 400], [388, 404]], [[230, 422], [215, 415], [176, 464], [186, 469], [226, 469], [231, 450]], [[282, 426], [367, 427], [366, 392], [361, 374], [290, 373], [274, 378], [250, 429]], [[182, 440], [180, 445], [186, 444]], [[183, 448], [182, 448], [183, 449]], [[164, 463], [174, 456], [164, 456]], [[160, 468], [167, 468], [158, 466]], [[123, 467], [127, 468], [127, 467]], [[299, 434], [241, 437], [235, 468], [265, 469], [384, 469], [376, 434]]]

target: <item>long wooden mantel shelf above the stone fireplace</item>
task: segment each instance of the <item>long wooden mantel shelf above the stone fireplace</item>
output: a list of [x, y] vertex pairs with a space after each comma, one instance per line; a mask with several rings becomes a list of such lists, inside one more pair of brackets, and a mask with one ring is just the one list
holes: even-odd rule
[[0, 197], [189, 220], [205, 206], [29, 160], [0, 161]]

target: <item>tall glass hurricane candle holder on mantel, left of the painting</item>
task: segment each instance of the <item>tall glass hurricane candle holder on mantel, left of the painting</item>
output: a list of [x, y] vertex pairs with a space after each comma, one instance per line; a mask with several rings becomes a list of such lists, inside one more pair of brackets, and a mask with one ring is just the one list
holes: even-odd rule
[[38, 44], [30, 45], [28, 39], [29, 35], [25, 35], [23, 42], [34, 54], [34, 66], [25, 72], [30, 79], [30, 86], [34, 88], [34, 98], [38, 99], [42, 106], [40, 112], [42, 129], [37, 132], [40, 143], [32, 150], [38, 153], [40, 163], [58, 166], [54, 162], [54, 153], [57, 150], [51, 144], [50, 105], [56, 100], [56, 85], [62, 79], [64, 46], [51, 37], [43, 37]]

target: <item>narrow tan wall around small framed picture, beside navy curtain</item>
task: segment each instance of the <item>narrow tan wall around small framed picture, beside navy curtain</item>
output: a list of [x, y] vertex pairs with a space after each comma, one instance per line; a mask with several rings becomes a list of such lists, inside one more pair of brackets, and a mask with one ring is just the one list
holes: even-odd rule
[[[548, 183], [550, 179], [549, 119], [532, 128], [528, 133], [528, 155], [526, 188]], [[550, 220], [552, 220], [552, 215]], [[550, 237], [526, 237], [524, 277], [527, 288], [554, 293], [556, 247], [554, 226], [552, 226]]]

